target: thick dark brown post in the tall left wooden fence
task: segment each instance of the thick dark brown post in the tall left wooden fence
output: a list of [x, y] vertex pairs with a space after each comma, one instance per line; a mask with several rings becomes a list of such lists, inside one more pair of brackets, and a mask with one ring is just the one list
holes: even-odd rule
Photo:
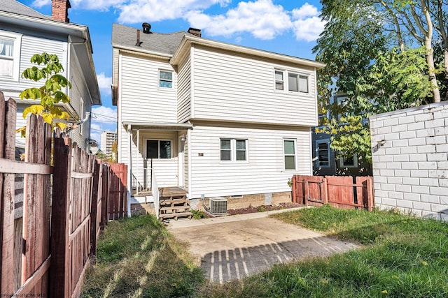
[[69, 200], [71, 187], [71, 140], [54, 139], [53, 200], [51, 217], [50, 297], [70, 297]]

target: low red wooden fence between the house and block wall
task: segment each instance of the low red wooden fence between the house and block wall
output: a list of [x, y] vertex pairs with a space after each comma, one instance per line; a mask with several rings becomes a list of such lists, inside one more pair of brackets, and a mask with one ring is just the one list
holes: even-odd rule
[[338, 208], [374, 207], [373, 178], [346, 176], [293, 176], [293, 202], [321, 206], [331, 204]]

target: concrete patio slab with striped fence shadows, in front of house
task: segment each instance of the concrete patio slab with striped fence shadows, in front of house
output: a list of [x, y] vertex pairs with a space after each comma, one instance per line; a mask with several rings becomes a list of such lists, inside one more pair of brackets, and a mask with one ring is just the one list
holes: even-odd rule
[[171, 221], [168, 228], [190, 244], [190, 252], [207, 278], [219, 283], [256, 274], [274, 264], [358, 247], [268, 217], [290, 210]]

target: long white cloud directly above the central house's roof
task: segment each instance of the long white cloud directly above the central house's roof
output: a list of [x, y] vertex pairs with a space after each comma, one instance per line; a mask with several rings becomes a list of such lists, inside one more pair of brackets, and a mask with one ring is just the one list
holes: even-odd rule
[[206, 15], [194, 10], [186, 14], [186, 19], [210, 36], [249, 32], [255, 38], [272, 39], [292, 27], [288, 11], [274, 5], [272, 0], [241, 1], [225, 15]]

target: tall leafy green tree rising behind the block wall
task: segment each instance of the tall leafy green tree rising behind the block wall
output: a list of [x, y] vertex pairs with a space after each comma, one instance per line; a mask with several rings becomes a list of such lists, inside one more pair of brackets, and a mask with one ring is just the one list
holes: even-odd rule
[[[442, 2], [442, 3], [440, 3]], [[370, 161], [367, 118], [379, 112], [440, 101], [446, 52], [442, 31], [446, 0], [321, 0], [325, 29], [314, 52], [327, 66], [318, 72], [320, 132], [332, 135], [340, 156]], [[436, 65], [439, 61], [440, 67]], [[445, 72], [446, 73], [446, 72]], [[439, 77], [437, 77], [439, 75]], [[439, 80], [437, 80], [439, 78]], [[332, 94], [346, 94], [332, 103]]]

